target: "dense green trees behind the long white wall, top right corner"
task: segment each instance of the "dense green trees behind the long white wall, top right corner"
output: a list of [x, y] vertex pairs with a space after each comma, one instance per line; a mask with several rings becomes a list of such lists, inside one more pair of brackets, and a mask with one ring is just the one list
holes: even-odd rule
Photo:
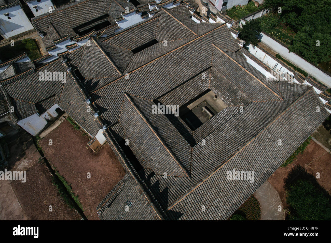
[[[267, 22], [263, 23], [263, 31], [289, 45], [290, 51], [307, 61], [318, 64], [330, 60], [330, 0], [265, 0], [264, 6], [275, 9], [277, 14], [276, 17], [261, 18], [262, 22]], [[281, 13], [278, 13], [279, 7]], [[282, 28], [284, 25], [286, 27]], [[293, 38], [288, 35], [288, 30], [294, 31]], [[319, 41], [319, 46], [316, 46], [316, 41]]]

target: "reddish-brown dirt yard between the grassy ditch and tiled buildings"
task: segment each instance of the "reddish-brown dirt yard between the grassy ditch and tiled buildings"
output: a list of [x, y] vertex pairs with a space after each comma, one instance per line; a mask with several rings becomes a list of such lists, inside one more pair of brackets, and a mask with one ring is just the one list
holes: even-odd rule
[[[53, 144], [49, 145], [52, 139]], [[71, 184], [89, 220], [99, 220], [96, 206], [125, 175], [125, 171], [108, 144], [97, 153], [88, 146], [89, 137], [62, 122], [40, 142], [49, 163]], [[87, 178], [87, 173], [91, 178]]]

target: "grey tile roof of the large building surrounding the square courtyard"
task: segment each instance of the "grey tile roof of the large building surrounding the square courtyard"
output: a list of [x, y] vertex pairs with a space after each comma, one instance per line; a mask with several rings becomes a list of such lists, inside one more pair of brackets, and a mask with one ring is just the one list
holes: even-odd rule
[[[161, 20], [164, 16], [161, 12], [157, 18]], [[172, 18], [172, 21], [177, 19]], [[171, 25], [170, 20], [168, 25]], [[206, 30], [199, 32], [199, 25]], [[118, 46], [121, 45], [120, 33]], [[130, 35], [130, 30], [125, 32], [123, 40], [129, 38], [126, 35]], [[145, 36], [143, 34], [142, 38]], [[156, 52], [161, 46], [152, 47], [145, 50]], [[308, 86], [265, 80], [265, 76], [246, 61], [243, 53], [250, 54], [245, 50], [241, 52], [224, 24], [212, 28], [208, 23], [200, 23], [198, 36], [186, 38], [170, 49], [159, 57], [154, 56], [155, 59], [146, 59], [147, 62], [144, 61], [147, 51], [141, 51], [141, 58], [126, 69], [128, 79], [124, 75], [109, 79], [108, 84], [92, 91], [94, 105], [100, 110], [102, 122], [111, 125], [109, 129], [115, 134], [112, 143], [128, 139], [129, 147], [143, 167], [137, 168], [138, 175], [131, 176], [146, 184], [160, 204], [160, 211], [169, 219], [227, 219], [328, 113], [324, 109], [321, 113], [313, 112], [322, 104]], [[203, 72], [207, 74], [205, 80], [201, 79]], [[151, 105], [156, 102], [182, 105], [208, 89], [228, 107], [194, 131], [181, 118], [151, 113]], [[244, 112], [240, 112], [240, 106]], [[291, 124], [285, 122], [289, 119]], [[273, 152], [278, 136], [268, 134], [278, 135], [283, 126], [281, 138], [291, 146]], [[298, 126], [302, 126], [300, 132]], [[202, 145], [203, 139], [206, 145]], [[121, 151], [120, 147], [116, 149]], [[171, 174], [176, 167], [168, 166], [177, 162], [188, 176]], [[128, 169], [128, 165], [130, 162], [124, 167]], [[219, 168], [229, 170], [225, 165], [231, 165], [231, 170], [232, 167], [236, 170], [253, 168], [259, 177], [255, 183], [224, 180], [226, 173], [219, 174]], [[167, 173], [165, 179], [163, 173], [168, 171], [170, 174]], [[203, 198], [202, 205], [198, 198]], [[201, 206], [209, 211], [201, 213]], [[109, 211], [105, 208], [102, 214]]]

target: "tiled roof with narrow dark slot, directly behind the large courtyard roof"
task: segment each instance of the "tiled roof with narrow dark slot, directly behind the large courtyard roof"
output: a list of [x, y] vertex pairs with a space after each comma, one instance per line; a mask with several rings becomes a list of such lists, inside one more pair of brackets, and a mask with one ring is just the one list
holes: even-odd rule
[[[164, 17], [169, 19], [166, 20]], [[167, 21], [165, 23], [168, 24], [163, 26], [160, 21], [165, 20]], [[193, 21], [191, 19], [189, 20]], [[92, 91], [93, 89], [98, 89], [109, 83], [115, 77], [128, 73], [193, 40], [193, 36], [195, 35], [190, 31], [187, 36], [181, 34], [179, 37], [176, 37], [184, 37], [184, 39], [173, 40], [174, 37], [169, 37], [169, 33], [171, 33], [171, 23], [178, 24], [178, 32], [181, 30], [182, 32], [189, 31], [185, 26], [178, 23], [176, 19], [170, 17], [165, 11], [160, 10], [152, 19], [136, 24], [109, 38], [92, 37], [91, 46], [84, 46], [80, 48], [82, 49], [81, 51], [75, 50], [68, 54], [67, 57], [74, 60], [72, 62], [74, 63], [73, 66], [78, 68], [85, 78], [84, 84], [86, 89]], [[219, 24], [215, 24], [213, 28], [219, 26]], [[159, 38], [158, 33], [160, 31], [168, 33], [169, 38]], [[141, 52], [136, 54], [132, 53], [132, 49], [154, 39], [159, 42]], [[166, 45], [164, 44], [164, 40], [166, 40]], [[91, 60], [99, 64], [91, 65]], [[109, 63], [111, 63], [111, 65], [109, 65]]]

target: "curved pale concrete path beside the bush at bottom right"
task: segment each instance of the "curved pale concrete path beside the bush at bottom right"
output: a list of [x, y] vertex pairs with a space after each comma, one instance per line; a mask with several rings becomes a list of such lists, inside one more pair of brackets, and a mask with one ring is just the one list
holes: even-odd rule
[[[253, 194], [260, 202], [261, 220], [285, 220], [285, 212], [278, 192], [266, 181]], [[282, 211], [278, 208], [281, 206]]]

